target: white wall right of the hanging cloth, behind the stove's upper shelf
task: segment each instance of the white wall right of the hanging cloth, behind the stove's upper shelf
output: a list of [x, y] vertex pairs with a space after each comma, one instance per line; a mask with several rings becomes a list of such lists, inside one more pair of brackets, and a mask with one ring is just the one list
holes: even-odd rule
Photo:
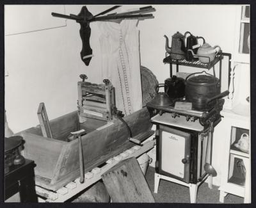
[[[156, 5], [155, 18], [140, 22], [141, 64], [150, 68], [159, 83], [170, 76], [169, 65], [163, 64], [165, 38], [179, 31], [190, 31], [195, 36], [203, 36], [210, 45], [220, 45], [223, 52], [234, 51], [234, 31], [236, 6], [232, 5]], [[171, 45], [171, 43], [170, 43]], [[226, 62], [225, 62], [226, 61]], [[225, 59], [223, 61], [227, 63]], [[216, 74], [218, 67], [216, 65]], [[180, 72], [200, 71], [190, 67], [179, 67]], [[173, 72], [175, 66], [173, 65]], [[209, 71], [212, 74], [212, 70]], [[228, 68], [223, 65], [223, 90], [228, 88]], [[225, 76], [224, 76], [225, 75]]]

